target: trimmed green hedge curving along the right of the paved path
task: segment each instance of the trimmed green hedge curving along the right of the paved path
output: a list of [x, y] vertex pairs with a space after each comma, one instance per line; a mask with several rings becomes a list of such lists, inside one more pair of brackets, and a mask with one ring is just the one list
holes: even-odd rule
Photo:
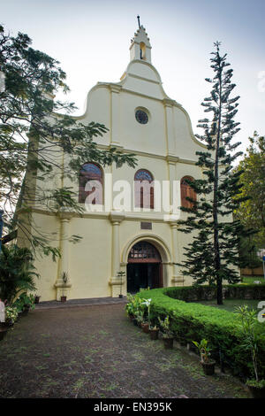
[[[246, 380], [253, 376], [250, 351], [242, 348], [243, 334], [239, 316], [203, 304], [186, 303], [175, 299], [176, 293], [186, 293], [186, 288], [143, 290], [141, 298], [151, 298], [151, 319], [158, 324], [158, 317], [170, 316], [171, 329], [178, 340], [201, 342], [206, 338], [212, 348], [212, 357], [230, 367], [233, 374]], [[259, 373], [265, 378], [265, 324], [257, 322], [259, 332]]]

